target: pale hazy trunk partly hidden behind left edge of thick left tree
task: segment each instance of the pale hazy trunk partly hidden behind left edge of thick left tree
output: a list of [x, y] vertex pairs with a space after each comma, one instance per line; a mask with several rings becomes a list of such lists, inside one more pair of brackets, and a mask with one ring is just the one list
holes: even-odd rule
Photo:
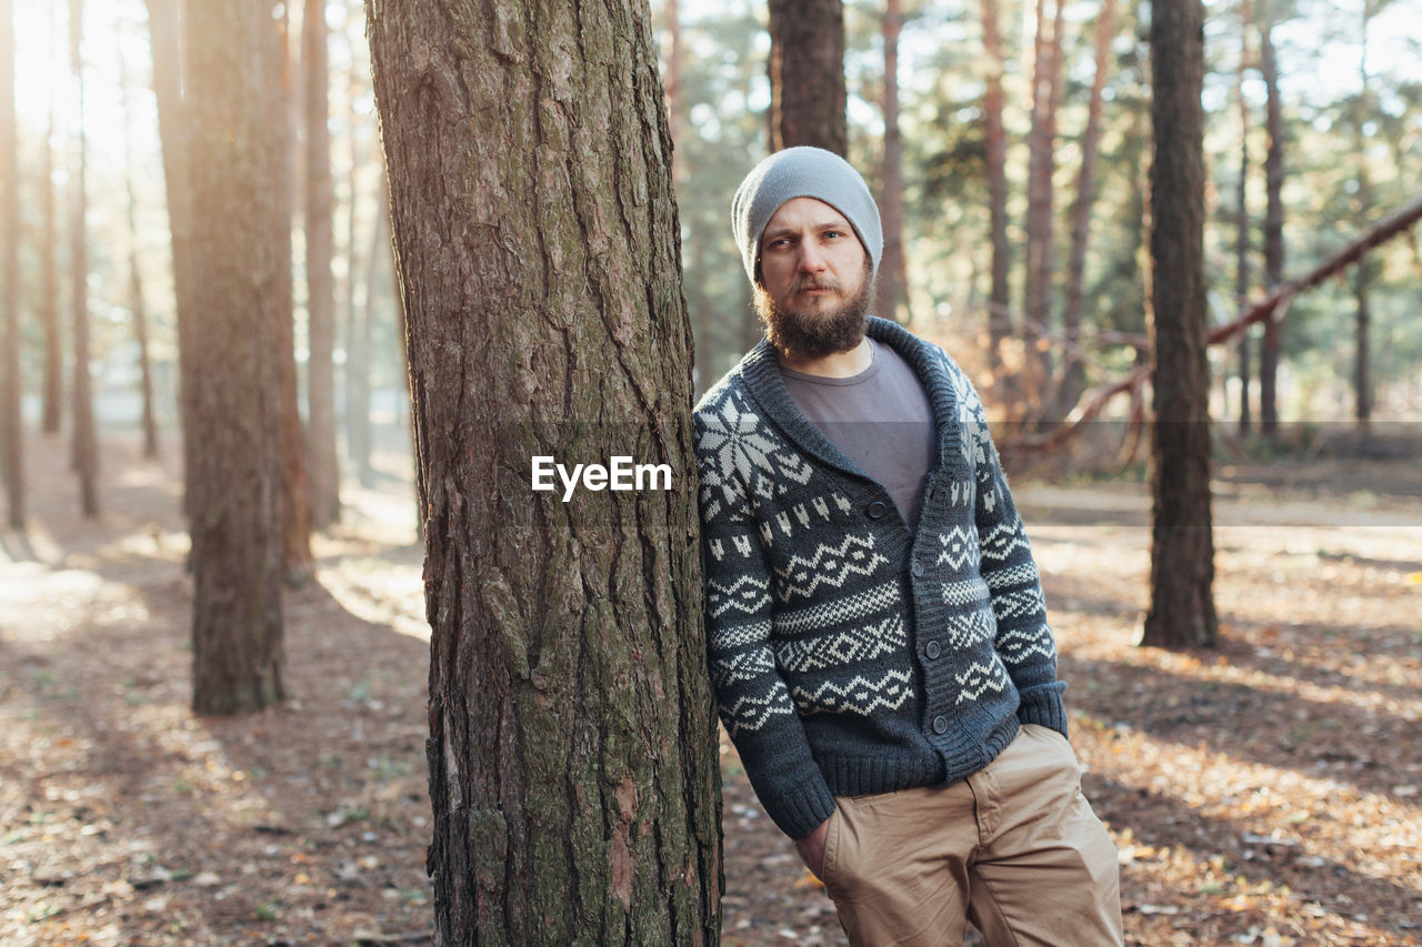
[[183, 512], [192, 513], [193, 482], [193, 395], [196, 384], [195, 330], [189, 324], [202, 307], [193, 260], [192, 161], [188, 154], [188, 122], [183, 117], [179, 0], [146, 0], [148, 30], [154, 50], [154, 98], [158, 105], [158, 134], [164, 146], [164, 181], [168, 191], [168, 229], [172, 235], [173, 297], [178, 306], [178, 417], [182, 424]]

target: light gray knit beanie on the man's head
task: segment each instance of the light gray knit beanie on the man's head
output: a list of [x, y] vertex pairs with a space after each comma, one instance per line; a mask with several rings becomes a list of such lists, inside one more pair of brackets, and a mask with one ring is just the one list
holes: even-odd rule
[[731, 200], [731, 230], [752, 283], [765, 225], [793, 198], [816, 198], [845, 215], [869, 253], [870, 276], [879, 272], [884, 233], [869, 185], [835, 152], [801, 146], [778, 151], [758, 164]]

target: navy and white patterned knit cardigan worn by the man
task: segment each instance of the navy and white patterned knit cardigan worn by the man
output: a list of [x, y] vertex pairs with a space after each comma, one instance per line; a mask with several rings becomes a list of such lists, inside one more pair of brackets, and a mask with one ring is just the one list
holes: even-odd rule
[[721, 719], [792, 839], [835, 796], [946, 785], [1020, 724], [1066, 732], [1027, 533], [977, 392], [937, 346], [870, 319], [933, 405], [916, 535], [752, 348], [697, 404], [707, 647]]

